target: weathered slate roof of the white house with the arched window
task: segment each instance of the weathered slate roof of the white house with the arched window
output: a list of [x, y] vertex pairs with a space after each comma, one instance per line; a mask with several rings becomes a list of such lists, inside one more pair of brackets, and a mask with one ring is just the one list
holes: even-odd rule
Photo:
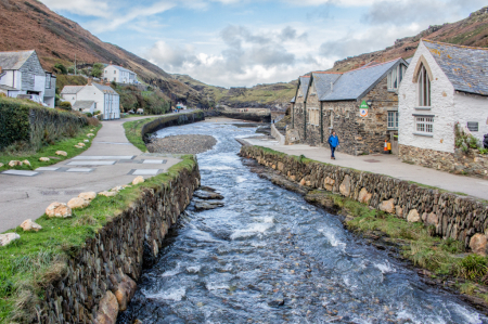
[[423, 39], [442, 72], [458, 91], [488, 95], [488, 49]]

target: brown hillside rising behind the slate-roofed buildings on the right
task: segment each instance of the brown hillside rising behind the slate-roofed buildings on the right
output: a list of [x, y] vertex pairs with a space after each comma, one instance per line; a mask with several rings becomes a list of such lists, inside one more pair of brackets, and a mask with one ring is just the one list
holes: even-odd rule
[[415, 53], [421, 38], [468, 47], [488, 47], [488, 7], [473, 12], [467, 18], [452, 24], [429, 26], [413, 37], [397, 39], [384, 50], [337, 61], [330, 70], [346, 72], [371, 61], [386, 62], [396, 57], [409, 59]]

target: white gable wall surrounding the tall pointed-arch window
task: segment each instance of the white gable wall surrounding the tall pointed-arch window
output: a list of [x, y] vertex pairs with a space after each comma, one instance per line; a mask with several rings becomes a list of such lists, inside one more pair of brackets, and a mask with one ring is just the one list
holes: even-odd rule
[[[413, 74], [421, 56], [424, 56], [433, 74], [431, 80], [431, 111], [415, 109], [419, 106], [418, 83], [413, 82]], [[428, 49], [421, 42], [407, 69], [399, 89], [399, 137], [401, 145], [431, 148], [442, 152], [454, 152], [454, 88], [437, 65]], [[434, 132], [432, 138], [415, 135], [415, 117], [412, 114], [434, 115]]]

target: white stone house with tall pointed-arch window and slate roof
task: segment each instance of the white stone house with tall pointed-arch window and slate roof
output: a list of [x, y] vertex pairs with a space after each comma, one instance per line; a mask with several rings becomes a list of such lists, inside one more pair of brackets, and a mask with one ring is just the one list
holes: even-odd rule
[[421, 40], [399, 90], [400, 157], [436, 165], [454, 153], [454, 128], [488, 133], [488, 49]]

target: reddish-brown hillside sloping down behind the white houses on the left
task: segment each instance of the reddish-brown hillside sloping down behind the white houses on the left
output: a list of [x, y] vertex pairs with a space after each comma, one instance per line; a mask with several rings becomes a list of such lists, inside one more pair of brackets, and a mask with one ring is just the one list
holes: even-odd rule
[[101, 41], [77, 23], [52, 12], [36, 0], [0, 0], [0, 51], [35, 49], [42, 66], [113, 63], [134, 70], [145, 82], [160, 88], [174, 101], [208, 105], [196, 90], [158, 66], [117, 46]]

